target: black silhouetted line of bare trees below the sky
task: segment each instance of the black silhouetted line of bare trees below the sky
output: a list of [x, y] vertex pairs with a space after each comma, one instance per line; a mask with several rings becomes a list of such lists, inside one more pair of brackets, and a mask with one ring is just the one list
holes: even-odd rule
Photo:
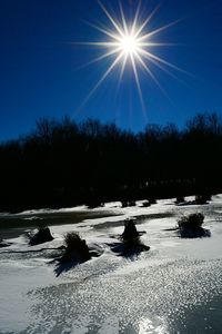
[[0, 210], [222, 191], [222, 121], [198, 114], [182, 130], [148, 125], [139, 134], [103, 125], [40, 119], [0, 145]]

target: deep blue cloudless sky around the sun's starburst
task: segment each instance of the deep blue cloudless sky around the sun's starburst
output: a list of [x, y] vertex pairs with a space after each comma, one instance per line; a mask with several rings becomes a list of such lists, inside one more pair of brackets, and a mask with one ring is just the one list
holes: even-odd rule
[[[103, 3], [119, 14], [118, 1]], [[122, 3], [130, 17], [138, 1]], [[158, 3], [143, 0], [142, 17]], [[1, 0], [0, 140], [29, 132], [41, 117], [99, 118], [138, 131], [147, 122], [183, 126], [202, 111], [222, 115], [222, 0], [162, 0], [150, 29], [176, 19], [182, 20], [159, 35], [158, 41], [178, 46], [159, 48], [157, 53], [192, 76], [174, 72], [183, 85], [152, 67], [169, 101], [141, 71], [145, 118], [130, 70], [118, 91], [117, 69], [80, 108], [110, 65], [104, 60], [81, 68], [101, 49], [71, 43], [104, 39], [84, 22], [111, 27], [95, 0]]]

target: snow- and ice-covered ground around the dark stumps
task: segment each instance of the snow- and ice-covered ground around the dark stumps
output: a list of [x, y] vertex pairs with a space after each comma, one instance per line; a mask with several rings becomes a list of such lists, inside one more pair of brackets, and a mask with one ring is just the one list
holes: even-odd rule
[[[70, 223], [70, 215], [75, 220], [87, 208], [2, 214], [0, 219], [22, 218], [26, 226], [49, 224], [49, 216], [54, 239], [30, 247], [21, 222], [4, 229], [12, 245], [0, 249], [0, 333], [222, 333], [222, 195], [203, 206], [179, 207], [172, 199], [140, 206], [105, 204], [99, 209], [110, 216], [69, 225], [58, 225], [58, 216], [65, 222], [69, 215]], [[204, 214], [211, 237], [181, 239], [170, 230], [182, 214], [196, 212]], [[132, 216], [151, 248], [127, 258], [111, 245]], [[70, 230], [102, 255], [58, 276], [58, 250], [26, 253], [61, 246]]]

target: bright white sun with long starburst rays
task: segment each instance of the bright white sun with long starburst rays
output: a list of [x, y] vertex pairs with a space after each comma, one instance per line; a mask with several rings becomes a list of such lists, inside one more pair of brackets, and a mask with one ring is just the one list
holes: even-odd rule
[[[105, 13], [107, 18], [109, 19], [112, 28], [103, 27], [103, 26], [95, 26], [89, 23], [94, 29], [102, 32], [105, 37], [105, 41], [95, 41], [95, 42], [83, 42], [81, 45], [92, 46], [100, 49], [104, 49], [104, 52], [98, 57], [97, 59], [92, 60], [90, 63], [101, 61], [105, 58], [111, 58], [112, 62], [100, 80], [95, 84], [93, 89], [88, 95], [87, 99], [83, 104], [85, 104], [89, 98], [95, 92], [95, 90], [102, 85], [102, 82], [107, 79], [107, 77], [119, 66], [119, 81], [122, 80], [123, 73], [125, 71], [127, 63], [130, 63], [134, 78], [135, 84], [138, 87], [138, 92], [140, 96], [141, 105], [144, 107], [142, 89], [140, 84], [139, 70], [143, 70], [149, 75], [149, 77], [158, 85], [158, 87], [162, 90], [162, 92], [167, 96], [165, 90], [160, 85], [159, 80], [157, 79], [155, 75], [153, 73], [152, 66], [158, 67], [159, 69], [163, 70], [171, 77], [175, 78], [175, 75], [172, 70], [183, 71], [182, 69], [178, 68], [176, 66], [172, 65], [171, 62], [164, 60], [163, 58], [157, 56], [151, 49], [157, 47], [164, 47], [164, 46], [172, 46], [172, 43], [164, 43], [164, 42], [157, 42], [154, 37], [165, 29], [170, 28], [171, 26], [175, 24], [178, 21], [168, 23], [155, 30], [151, 30], [149, 28], [149, 23], [155, 12], [159, 9], [159, 6], [148, 16], [148, 18], [143, 21], [140, 20], [140, 9], [141, 2], [138, 6], [135, 11], [134, 18], [132, 22], [129, 22], [125, 19], [125, 14], [123, 8], [120, 2], [120, 16], [121, 21], [110, 14], [103, 3], [98, 0], [100, 7], [102, 8], [103, 12]], [[152, 66], [151, 66], [152, 65]], [[184, 72], [184, 71], [183, 71]]]

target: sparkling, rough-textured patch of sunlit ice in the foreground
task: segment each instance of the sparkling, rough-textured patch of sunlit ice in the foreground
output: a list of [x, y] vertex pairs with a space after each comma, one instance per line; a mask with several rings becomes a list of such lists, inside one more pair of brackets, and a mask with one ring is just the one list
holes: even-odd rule
[[[50, 333], [62, 322], [68, 328], [87, 325], [91, 332], [85, 333], [98, 333], [108, 317], [117, 317], [119, 333], [135, 334], [139, 327], [153, 331], [148, 333], [168, 333], [169, 327], [173, 333], [188, 312], [195, 312], [222, 293], [221, 262], [150, 258], [147, 263], [144, 257], [133, 264], [101, 256], [69, 272], [67, 283], [34, 289], [30, 297], [36, 301], [31, 312], [37, 322], [30, 331], [43, 333], [49, 326], [44, 333]], [[89, 323], [82, 323], [83, 317]], [[161, 318], [168, 320], [168, 326]]]

